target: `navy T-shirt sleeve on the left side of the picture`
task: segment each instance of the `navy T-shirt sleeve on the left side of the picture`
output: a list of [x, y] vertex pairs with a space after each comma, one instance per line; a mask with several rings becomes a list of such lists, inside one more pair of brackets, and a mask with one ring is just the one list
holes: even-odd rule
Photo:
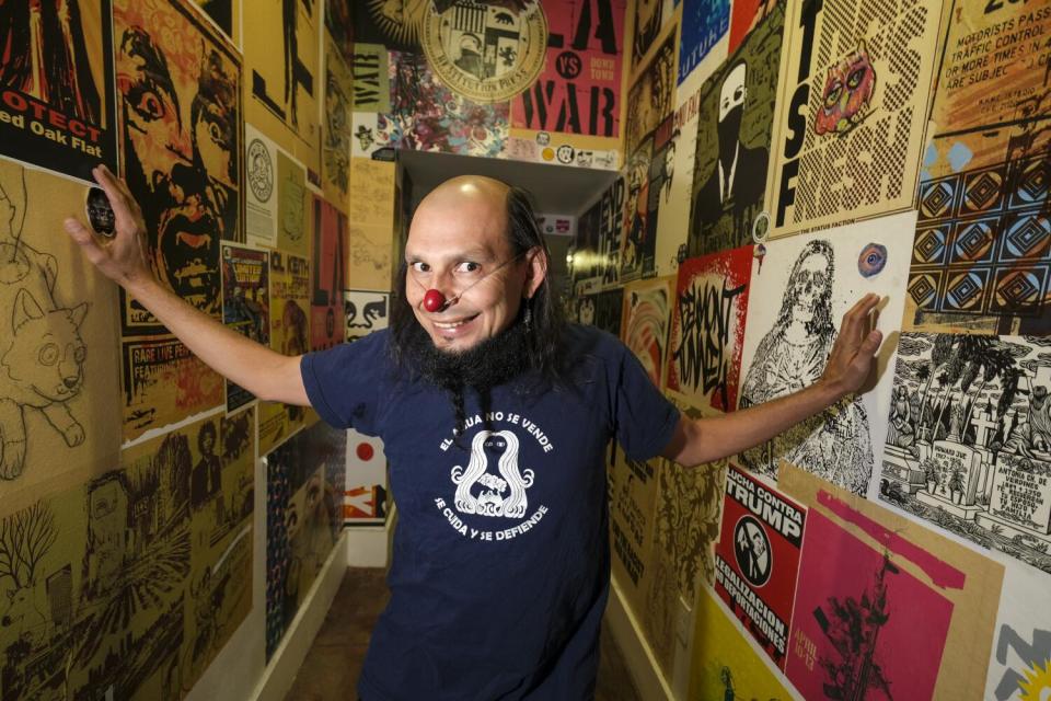
[[380, 386], [389, 367], [386, 335], [377, 332], [303, 356], [299, 371], [307, 397], [330, 426], [379, 433]]

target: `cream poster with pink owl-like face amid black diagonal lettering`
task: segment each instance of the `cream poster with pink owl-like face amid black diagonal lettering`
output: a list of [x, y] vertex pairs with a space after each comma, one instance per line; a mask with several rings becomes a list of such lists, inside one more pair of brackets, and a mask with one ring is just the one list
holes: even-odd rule
[[772, 237], [912, 206], [939, 0], [786, 3]]

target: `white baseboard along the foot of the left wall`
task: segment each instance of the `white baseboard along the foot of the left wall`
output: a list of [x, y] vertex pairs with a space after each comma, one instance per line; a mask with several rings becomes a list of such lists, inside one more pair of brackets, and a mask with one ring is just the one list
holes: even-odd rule
[[314, 579], [296, 618], [285, 633], [285, 640], [270, 658], [263, 677], [252, 694], [254, 701], [284, 701], [292, 688], [296, 675], [310, 652], [310, 646], [321, 630], [325, 616], [336, 597], [339, 583], [347, 573], [347, 531], [344, 529], [335, 548]]

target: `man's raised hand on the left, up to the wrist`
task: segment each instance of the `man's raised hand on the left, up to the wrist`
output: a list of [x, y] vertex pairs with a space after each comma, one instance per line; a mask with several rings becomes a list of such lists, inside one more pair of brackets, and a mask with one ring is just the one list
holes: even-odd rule
[[103, 275], [129, 291], [155, 281], [150, 267], [146, 225], [139, 203], [131, 196], [125, 182], [111, 173], [105, 165], [96, 166], [92, 170], [92, 175], [105, 191], [113, 208], [114, 237], [109, 241], [100, 241], [74, 217], [67, 217], [66, 231]]

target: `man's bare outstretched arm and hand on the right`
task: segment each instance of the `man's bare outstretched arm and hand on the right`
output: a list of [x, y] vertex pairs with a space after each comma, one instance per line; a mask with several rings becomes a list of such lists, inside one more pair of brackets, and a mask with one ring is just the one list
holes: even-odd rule
[[753, 448], [859, 390], [874, 371], [882, 334], [875, 326], [877, 295], [866, 295], [843, 317], [824, 372], [810, 387], [737, 412], [679, 420], [662, 455], [680, 464], [712, 462]]

